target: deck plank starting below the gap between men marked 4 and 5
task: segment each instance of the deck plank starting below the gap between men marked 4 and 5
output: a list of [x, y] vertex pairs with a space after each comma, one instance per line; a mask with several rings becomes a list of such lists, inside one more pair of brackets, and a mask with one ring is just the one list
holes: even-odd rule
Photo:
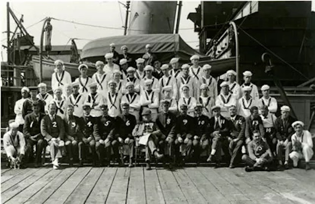
[[65, 204], [84, 204], [103, 171], [104, 168], [92, 169], [67, 198]]

